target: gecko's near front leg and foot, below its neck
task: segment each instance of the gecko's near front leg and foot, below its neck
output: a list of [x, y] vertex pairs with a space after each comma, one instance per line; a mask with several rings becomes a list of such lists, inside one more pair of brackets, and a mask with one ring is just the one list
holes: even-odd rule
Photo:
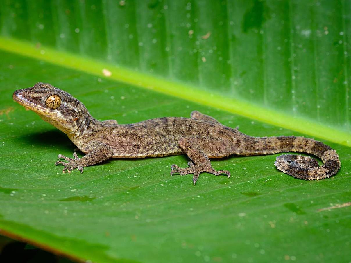
[[58, 159], [64, 159], [67, 162], [57, 161], [55, 162], [55, 166], [58, 164], [62, 164], [63, 166], [65, 166], [65, 168], [63, 169], [64, 173], [66, 171], [68, 173], [71, 173], [71, 171], [74, 170], [75, 168], [78, 168], [80, 173], [83, 173], [84, 167], [103, 162], [109, 159], [113, 155], [112, 148], [101, 142], [91, 143], [88, 147], [88, 150], [89, 152], [81, 158], [78, 157], [77, 153], [73, 153], [74, 159], [66, 157], [62, 154], [59, 154], [57, 156]]

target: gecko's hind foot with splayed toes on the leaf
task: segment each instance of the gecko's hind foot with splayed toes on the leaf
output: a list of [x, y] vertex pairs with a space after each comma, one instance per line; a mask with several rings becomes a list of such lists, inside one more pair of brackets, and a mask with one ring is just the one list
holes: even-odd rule
[[171, 175], [179, 173], [180, 175], [194, 174], [193, 183], [196, 184], [196, 181], [199, 178], [201, 172], [207, 172], [214, 175], [226, 174], [228, 178], [230, 177], [230, 171], [227, 170], [214, 170], [211, 164], [193, 164], [192, 161], [188, 162], [187, 168], [179, 168], [176, 164], [171, 166]]

